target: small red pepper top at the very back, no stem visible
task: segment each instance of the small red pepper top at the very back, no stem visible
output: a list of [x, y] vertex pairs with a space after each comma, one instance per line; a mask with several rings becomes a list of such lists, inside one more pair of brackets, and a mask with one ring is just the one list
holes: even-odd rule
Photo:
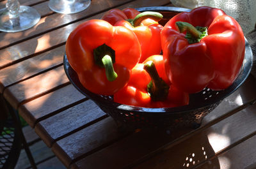
[[125, 8], [124, 10], [118, 10], [116, 8], [111, 9], [104, 13], [102, 20], [106, 20], [111, 25], [115, 25], [116, 22], [119, 20], [127, 20], [135, 18], [140, 11], [134, 9], [134, 8]]

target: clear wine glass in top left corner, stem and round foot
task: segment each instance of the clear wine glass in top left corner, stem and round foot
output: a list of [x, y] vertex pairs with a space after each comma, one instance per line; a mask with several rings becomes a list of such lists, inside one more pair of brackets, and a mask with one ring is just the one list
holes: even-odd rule
[[0, 31], [15, 33], [35, 26], [40, 14], [29, 6], [20, 6], [17, 0], [8, 0], [6, 8], [0, 10]]

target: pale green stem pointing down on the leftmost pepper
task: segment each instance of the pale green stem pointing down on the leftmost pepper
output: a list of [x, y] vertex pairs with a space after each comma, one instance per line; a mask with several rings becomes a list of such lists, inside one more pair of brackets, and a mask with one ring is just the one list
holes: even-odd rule
[[104, 55], [104, 57], [102, 57], [102, 63], [106, 71], [106, 77], [110, 82], [113, 82], [116, 79], [117, 74], [113, 68], [113, 63], [110, 55]]

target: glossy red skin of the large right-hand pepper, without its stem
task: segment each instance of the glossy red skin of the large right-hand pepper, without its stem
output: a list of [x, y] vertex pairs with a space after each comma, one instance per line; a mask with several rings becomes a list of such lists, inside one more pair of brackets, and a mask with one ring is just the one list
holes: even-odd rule
[[[175, 26], [178, 21], [208, 27], [208, 35], [189, 44]], [[164, 26], [161, 41], [166, 74], [185, 92], [226, 89], [243, 63], [243, 31], [234, 18], [217, 8], [204, 6], [175, 15]]]

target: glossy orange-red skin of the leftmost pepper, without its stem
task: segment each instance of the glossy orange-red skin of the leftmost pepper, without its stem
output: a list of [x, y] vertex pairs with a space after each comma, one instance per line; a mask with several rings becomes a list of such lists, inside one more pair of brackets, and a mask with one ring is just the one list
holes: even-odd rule
[[[95, 51], [103, 45], [114, 51], [113, 54], [107, 50], [106, 54], [115, 56], [112, 59], [117, 74], [115, 79], [109, 80], [107, 69], [96, 62], [100, 57], [95, 56]], [[98, 51], [102, 56], [104, 52]], [[127, 84], [131, 69], [140, 60], [141, 49], [131, 30], [111, 26], [104, 20], [88, 20], [68, 36], [66, 54], [70, 66], [86, 89], [96, 94], [113, 95]]]

